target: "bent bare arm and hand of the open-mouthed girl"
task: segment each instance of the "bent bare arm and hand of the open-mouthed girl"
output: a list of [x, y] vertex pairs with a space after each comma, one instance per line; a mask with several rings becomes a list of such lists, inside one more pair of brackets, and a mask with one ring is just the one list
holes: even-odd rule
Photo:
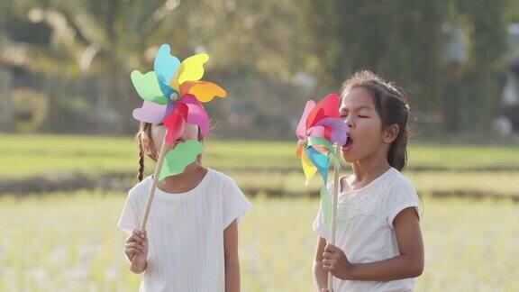
[[351, 263], [341, 249], [327, 245], [324, 249], [325, 270], [341, 279], [389, 281], [414, 278], [423, 272], [423, 240], [418, 214], [414, 207], [405, 208], [394, 220], [400, 255], [376, 262]]

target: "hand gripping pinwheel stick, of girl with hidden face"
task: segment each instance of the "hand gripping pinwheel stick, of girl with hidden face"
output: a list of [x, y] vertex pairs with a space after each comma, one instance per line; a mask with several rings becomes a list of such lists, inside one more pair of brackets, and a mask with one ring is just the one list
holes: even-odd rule
[[124, 244], [124, 253], [128, 260], [132, 262], [131, 269], [141, 273], [146, 269], [148, 258], [148, 237], [146, 231], [133, 229], [132, 234]]

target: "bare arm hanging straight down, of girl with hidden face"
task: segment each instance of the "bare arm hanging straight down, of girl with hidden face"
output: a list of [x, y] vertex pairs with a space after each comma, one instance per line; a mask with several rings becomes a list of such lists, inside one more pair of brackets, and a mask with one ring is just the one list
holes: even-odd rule
[[240, 260], [238, 259], [238, 223], [232, 221], [223, 231], [225, 260], [225, 292], [240, 291]]

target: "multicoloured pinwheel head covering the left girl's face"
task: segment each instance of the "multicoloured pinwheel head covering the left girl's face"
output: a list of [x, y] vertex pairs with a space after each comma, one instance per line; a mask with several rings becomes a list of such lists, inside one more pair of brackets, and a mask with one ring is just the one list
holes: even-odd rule
[[138, 70], [131, 78], [137, 93], [144, 100], [142, 107], [133, 111], [141, 122], [160, 123], [168, 129], [166, 141], [172, 143], [184, 132], [186, 123], [194, 123], [205, 135], [209, 131], [209, 116], [200, 103], [214, 96], [225, 97], [222, 87], [212, 82], [199, 81], [204, 75], [206, 54], [197, 54], [182, 61], [169, 53], [169, 45], [160, 46], [153, 68], [146, 74]]

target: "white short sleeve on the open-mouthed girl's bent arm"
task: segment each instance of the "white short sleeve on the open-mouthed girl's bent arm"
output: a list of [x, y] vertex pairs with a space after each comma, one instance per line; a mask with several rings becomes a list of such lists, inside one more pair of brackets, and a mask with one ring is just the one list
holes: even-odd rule
[[391, 228], [395, 228], [393, 221], [396, 215], [408, 207], [414, 207], [420, 219], [419, 198], [413, 183], [405, 177], [396, 178], [387, 190], [387, 223]]

